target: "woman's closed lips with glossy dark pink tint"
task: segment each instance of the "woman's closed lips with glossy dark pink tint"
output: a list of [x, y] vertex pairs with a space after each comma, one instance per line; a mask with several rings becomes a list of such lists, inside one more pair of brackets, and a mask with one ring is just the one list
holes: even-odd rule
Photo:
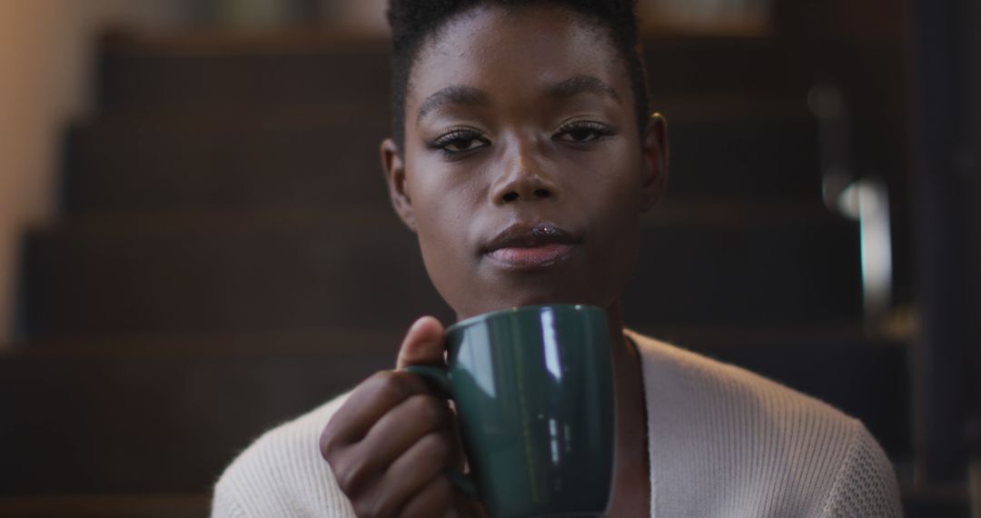
[[550, 223], [516, 224], [497, 234], [484, 253], [506, 268], [535, 269], [561, 261], [579, 242]]

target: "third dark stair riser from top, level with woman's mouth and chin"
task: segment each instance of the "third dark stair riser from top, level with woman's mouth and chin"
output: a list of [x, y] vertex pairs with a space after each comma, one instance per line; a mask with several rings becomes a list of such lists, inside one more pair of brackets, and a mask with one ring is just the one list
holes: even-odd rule
[[[637, 323], [854, 322], [857, 229], [816, 207], [666, 205], [624, 294]], [[783, 207], [783, 208], [781, 208]], [[717, 219], [713, 219], [717, 218]], [[389, 212], [75, 218], [26, 243], [28, 336], [322, 329], [451, 316]]]

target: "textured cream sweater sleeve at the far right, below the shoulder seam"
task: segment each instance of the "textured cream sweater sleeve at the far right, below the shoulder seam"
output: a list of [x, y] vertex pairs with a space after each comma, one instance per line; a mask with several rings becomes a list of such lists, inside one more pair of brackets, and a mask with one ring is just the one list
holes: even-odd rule
[[821, 513], [825, 518], [903, 516], [893, 465], [879, 443], [853, 421], [849, 451]]

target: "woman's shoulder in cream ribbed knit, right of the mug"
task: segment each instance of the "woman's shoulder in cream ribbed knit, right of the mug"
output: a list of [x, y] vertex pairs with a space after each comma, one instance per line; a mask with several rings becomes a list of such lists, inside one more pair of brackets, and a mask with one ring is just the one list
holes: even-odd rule
[[[726, 507], [740, 509], [729, 516], [835, 516], [826, 508], [836, 505], [831, 502], [848, 487], [843, 479], [857, 469], [871, 470], [866, 476], [880, 484], [873, 492], [898, 506], [892, 466], [856, 419], [745, 369], [629, 335], [643, 358], [660, 504], [700, 506], [700, 516], [726, 515], [718, 514]], [[670, 475], [658, 477], [658, 467]], [[693, 495], [679, 480], [710, 496]]]

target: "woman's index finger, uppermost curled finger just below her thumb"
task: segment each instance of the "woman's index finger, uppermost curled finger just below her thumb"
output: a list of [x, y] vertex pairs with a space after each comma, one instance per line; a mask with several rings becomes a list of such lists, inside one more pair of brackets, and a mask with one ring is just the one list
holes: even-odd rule
[[337, 409], [320, 437], [321, 454], [368, 435], [389, 410], [416, 394], [430, 393], [422, 378], [407, 372], [382, 371], [361, 383]]

